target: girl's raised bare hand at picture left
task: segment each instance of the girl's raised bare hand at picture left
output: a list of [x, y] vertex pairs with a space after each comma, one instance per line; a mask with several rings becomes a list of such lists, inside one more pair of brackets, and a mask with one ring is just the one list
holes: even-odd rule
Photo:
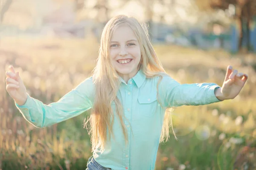
[[15, 72], [13, 66], [9, 66], [6, 72], [6, 90], [15, 102], [22, 106], [27, 99], [26, 87], [19, 76], [19, 72]]

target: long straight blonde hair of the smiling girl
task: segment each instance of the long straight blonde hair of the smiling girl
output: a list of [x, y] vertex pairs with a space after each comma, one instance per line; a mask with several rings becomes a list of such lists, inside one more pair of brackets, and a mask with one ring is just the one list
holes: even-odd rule
[[[167, 75], [163, 69], [162, 64], [157, 58], [156, 53], [154, 52], [153, 46], [148, 37], [148, 30], [145, 25], [141, 25], [134, 17], [127, 17], [125, 15], [118, 15], [108, 21], [102, 32], [99, 56], [97, 58], [96, 67], [93, 69], [93, 83], [95, 84], [95, 100], [93, 104], [93, 111], [90, 115], [90, 118], [84, 124], [84, 126], [86, 126], [89, 123], [89, 135], [91, 137], [92, 151], [94, 149], [100, 149], [103, 151], [106, 141], [111, 136], [114, 138], [114, 115], [111, 108], [111, 103], [113, 101], [116, 104], [116, 114], [118, 115], [122, 125], [125, 143], [128, 143], [127, 131], [122, 120], [122, 104], [116, 97], [120, 81], [118, 79], [118, 73], [113, 68], [109, 57], [110, 39], [114, 29], [116, 29], [120, 24], [127, 24], [130, 26], [139, 41], [141, 49], [141, 60], [138, 70], [141, 70], [145, 74], [146, 78], [160, 76], [160, 79], [157, 83], [157, 93], [158, 85], [163, 78], [162, 75]], [[157, 101], [159, 102], [158, 99]], [[167, 141], [169, 138], [169, 128], [172, 126], [171, 116], [171, 114], [165, 113], [160, 142], [164, 141], [165, 139]], [[172, 131], [174, 133], [173, 127]], [[108, 139], [107, 135], [109, 137]]]

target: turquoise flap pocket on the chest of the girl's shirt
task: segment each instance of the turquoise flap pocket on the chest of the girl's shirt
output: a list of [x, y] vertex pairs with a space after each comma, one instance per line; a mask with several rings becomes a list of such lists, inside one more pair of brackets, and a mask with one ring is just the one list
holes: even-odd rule
[[157, 112], [157, 93], [148, 93], [138, 96], [138, 111], [139, 115], [152, 116]]

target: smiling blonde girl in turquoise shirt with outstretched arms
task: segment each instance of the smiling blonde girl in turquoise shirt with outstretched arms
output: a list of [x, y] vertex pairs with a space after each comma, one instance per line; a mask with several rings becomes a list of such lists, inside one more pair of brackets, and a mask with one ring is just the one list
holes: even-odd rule
[[6, 90], [23, 117], [47, 127], [92, 108], [93, 156], [87, 170], [154, 170], [159, 143], [169, 138], [167, 108], [235, 98], [247, 75], [228, 66], [222, 87], [179, 84], [166, 74], [148, 33], [133, 17], [118, 15], [106, 24], [93, 75], [59, 101], [43, 104], [26, 93], [12, 66]]

